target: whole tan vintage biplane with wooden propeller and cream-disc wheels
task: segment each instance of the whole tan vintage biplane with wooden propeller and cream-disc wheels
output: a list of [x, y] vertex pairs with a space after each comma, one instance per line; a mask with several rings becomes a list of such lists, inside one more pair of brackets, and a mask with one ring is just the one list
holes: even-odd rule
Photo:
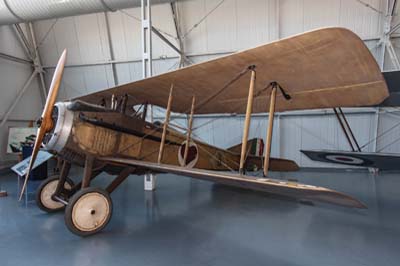
[[[174, 173], [226, 185], [353, 208], [351, 196], [317, 186], [268, 178], [268, 171], [297, 170], [295, 162], [270, 158], [275, 111], [367, 106], [388, 96], [385, 80], [363, 41], [349, 30], [326, 28], [169, 73], [57, 102], [66, 61], [59, 59], [38, 121], [31, 170], [43, 142], [63, 160], [60, 174], [41, 184], [38, 206], [65, 207], [65, 223], [79, 236], [102, 230], [112, 215], [110, 194], [132, 174]], [[143, 105], [139, 112], [137, 106]], [[147, 106], [165, 109], [163, 123], [146, 121]], [[184, 133], [171, 112], [188, 115]], [[269, 113], [264, 152], [248, 140], [251, 116]], [[197, 114], [244, 114], [242, 142], [220, 149], [193, 136]], [[71, 165], [84, 168], [78, 184]], [[263, 169], [263, 177], [249, 171]], [[105, 188], [91, 186], [101, 172], [116, 177]], [[24, 187], [29, 177], [25, 178]], [[21, 193], [21, 196], [22, 196]]]

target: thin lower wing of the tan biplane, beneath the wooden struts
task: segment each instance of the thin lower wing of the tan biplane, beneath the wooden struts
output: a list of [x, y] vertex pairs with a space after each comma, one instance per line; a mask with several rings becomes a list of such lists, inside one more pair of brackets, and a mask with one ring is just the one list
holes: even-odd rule
[[192, 169], [167, 164], [157, 164], [133, 159], [115, 157], [104, 157], [99, 159], [110, 163], [131, 165], [157, 172], [174, 173], [177, 175], [189, 176], [220, 184], [264, 191], [297, 199], [317, 200], [345, 207], [366, 208], [363, 203], [348, 195], [323, 187], [310, 186], [294, 182], [285, 182], [271, 178], [255, 178], [238, 174]]

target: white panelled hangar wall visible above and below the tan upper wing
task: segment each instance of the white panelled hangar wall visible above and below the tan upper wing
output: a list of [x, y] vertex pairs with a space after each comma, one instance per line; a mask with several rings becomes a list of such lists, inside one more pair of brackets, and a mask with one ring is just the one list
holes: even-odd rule
[[[185, 33], [192, 29], [219, 2], [179, 2], [178, 13], [182, 31]], [[384, 10], [386, 1], [364, 2], [378, 10]], [[156, 28], [169, 35], [176, 35], [169, 5], [154, 6], [152, 13], [153, 25]], [[140, 22], [132, 18], [140, 17], [139, 9], [117, 11], [109, 13], [108, 16], [119, 84], [140, 79]], [[356, 0], [225, 0], [202, 23], [193, 28], [185, 38], [184, 46], [186, 53], [192, 55], [191, 59], [200, 62], [326, 26], [341, 26], [355, 31], [361, 38], [368, 39], [366, 44], [377, 57], [377, 48], [374, 47], [382, 34], [382, 16]], [[43, 64], [47, 66], [47, 83], [51, 79], [59, 54], [64, 48], [68, 49], [67, 65], [70, 67], [65, 70], [60, 100], [115, 85], [112, 67], [106, 64], [111, 55], [104, 13], [39, 21], [34, 23], [34, 29], [40, 44], [39, 52]], [[174, 38], [168, 38], [177, 44]], [[155, 74], [177, 66], [176, 53], [155, 35], [153, 57]], [[386, 69], [392, 68], [390, 60], [386, 61]], [[29, 73], [26, 71], [25, 75]], [[20, 84], [15, 84], [14, 90], [20, 87]], [[19, 109], [25, 107], [21, 105]], [[207, 119], [197, 118], [195, 124], [202, 124]], [[380, 119], [378, 131], [393, 123], [390, 119]], [[220, 118], [199, 129], [196, 134], [212, 144], [228, 147], [239, 142], [242, 120], [240, 117]], [[351, 114], [349, 120], [360, 143], [367, 142], [376, 134], [377, 122], [373, 110]], [[273, 154], [295, 159], [303, 166], [322, 165], [308, 161], [300, 154], [300, 148], [349, 149], [332, 115], [282, 115], [276, 124], [280, 124], [280, 134], [274, 134]], [[265, 128], [265, 117], [256, 117], [252, 123], [252, 136], [264, 137]], [[235, 132], [235, 135], [227, 137], [227, 132]], [[385, 141], [380, 140], [377, 145], [383, 145]], [[373, 145], [367, 148], [371, 151], [374, 149]], [[400, 146], [396, 151], [400, 152]]]

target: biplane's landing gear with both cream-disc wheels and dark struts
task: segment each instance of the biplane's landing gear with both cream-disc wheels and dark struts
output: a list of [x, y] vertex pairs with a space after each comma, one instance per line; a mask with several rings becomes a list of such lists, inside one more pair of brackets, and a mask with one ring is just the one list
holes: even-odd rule
[[86, 156], [82, 180], [76, 185], [67, 177], [70, 167], [71, 163], [64, 161], [60, 175], [46, 179], [40, 185], [36, 196], [37, 205], [46, 212], [65, 208], [65, 224], [78, 236], [96, 234], [111, 219], [113, 204], [110, 194], [136, 169], [123, 168], [105, 189], [101, 189], [90, 187], [91, 181], [104, 167], [96, 165], [93, 157]]

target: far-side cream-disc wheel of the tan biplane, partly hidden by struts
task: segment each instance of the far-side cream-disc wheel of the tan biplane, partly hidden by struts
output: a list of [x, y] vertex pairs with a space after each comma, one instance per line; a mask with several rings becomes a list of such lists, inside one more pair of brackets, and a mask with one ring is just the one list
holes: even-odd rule
[[[57, 212], [64, 209], [65, 205], [61, 202], [52, 199], [54, 192], [56, 191], [57, 184], [59, 182], [59, 176], [51, 176], [40, 184], [36, 191], [36, 205], [45, 212]], [[74, 182], [67, 178], [64, 188], [70, 190], [74, 186]]]

